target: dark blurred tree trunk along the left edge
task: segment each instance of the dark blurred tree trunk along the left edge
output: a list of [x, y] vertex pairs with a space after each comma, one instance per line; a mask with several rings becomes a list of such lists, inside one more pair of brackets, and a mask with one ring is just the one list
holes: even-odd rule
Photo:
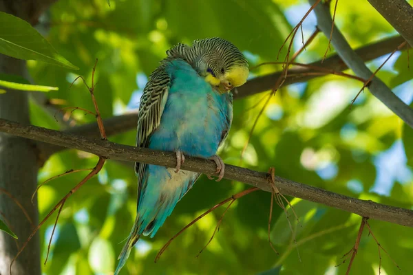
[[[21, 5], [18, 9], [14, 5], [17, 2]], [[30, 14], [25, 12], [30, 10], [27, 5], [29, 1], [23, 2], [0, 0], [0, 11], [27, 20]], [[0, 54], [0, 74], [25, 77], [25, 61]], [[29, 124], [28, 94], [23, 91], [7, 91], [6, 94], [0, 94], [0, 118]], [[0, 188], [10, 192], [23, 205], [34, 225], [38, 224], [37, 198], [34, 200], [34, 206], [30, 198], [37, 185], [37, 169], [36, 148], [30, 140], [0, 133]], [[33, 230], [30, 222], [17, 204], [4, 194], [0, 195], [0, 212], [9, 221], [13, 232], [19, 236], [18, 243], [21, 247]], [[36, 234], [14, 262], [13, 275], [41, 274], [39, 243], [39, 234]], [[10, 262], [16, 254], [17, 245], [14, 239], [0, 232], [0, 275], [9, 274]]]

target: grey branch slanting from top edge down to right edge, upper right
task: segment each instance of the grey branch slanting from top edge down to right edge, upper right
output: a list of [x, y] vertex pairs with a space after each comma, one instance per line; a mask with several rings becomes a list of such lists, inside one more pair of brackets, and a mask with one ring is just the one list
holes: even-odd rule
[[[315, 0], [309, 0], [310, 4], [315, 3]], [[317, 5], [314, 9], [315, 15], [317, 17], [318, 27], [321, 32], [327, 37], [330, 37], [332, 19], [330, 15], [330, 10], [328, 5]], [[332, 32], [332, 45], [334, 45], [335, 50], [341, 56], [344, 63], [348, 65], [350, 69], [357, 76], [369, 79], [372, 76], [372, 72], [364, 61], [352, 50], [348, 42], [344, 38], [343, 34], [334, 26]], [[400, 98], [393, 94], [392, 90], [389, 89], [379, 78], [374, 76], [369, 87], [370, 92], [373, 96], [378, 98], [385, 106], [393, 111], [399, 116], [406, 124], [413, 128], [413, 110], [405, 104]]]

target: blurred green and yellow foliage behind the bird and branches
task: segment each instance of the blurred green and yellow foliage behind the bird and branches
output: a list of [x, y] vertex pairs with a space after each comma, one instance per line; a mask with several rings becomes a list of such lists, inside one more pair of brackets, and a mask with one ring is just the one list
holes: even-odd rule
[[[172, 45], [220, 36], [237, 45], [251, 67], [276, 61], [279, 47], [308, 8], [307, 1], [299, 0], [112, 0], [110, 7], [106, 0], [59, 0], [43, 14], [36, 28], [59, 54], [80, 69], [69, 71], [36, 61], [29, 61], [28, 66], [34, 83], [59, 87], [59, 91], [47, 94], [50, 99], [93, 110], [81, 81], [72, 88], [70, 83], [78, 75], [90, 81], [98, 58], [95, 93], [103, 118], [109, 118], [136, 111], [147, 76]], [[396, 34], [368, 1], [340, 1], [336, 23], [354, 48]], [[310, 14], [303, 25], [304, 38], [315, 25], [315, 16]], [[300, 36], [294, 50], [301, 47]], [[297, 61], [319, 60], [327, 43], [328, 39], [319, 34]], [[378, 58], [368, 66], [377, 69], [384, 60]], [[251, 72], [251, 78], [280, 69], [278, 65], [259, 67]], [[407, 69], [406, 52], [394, 54], [378, 76], [403, 101], [412, 102], [412, 70]], [[275, 166], [281, 177], [412, 209], [412, 129], [369, 91], [364, 91], [350, 109], [350, 100], [360, 88], [361, 83], [340, 76], [282, 87], [257, 123], [242, 160], [242, 148], [265, 94], [236, 100], [233, 126], [220, 155], [229, 164], [261, 171]], [[32, 124], [63, 129], [61, 121], [56, 122], [35, 102], [30, 109]], [[77, 125], [94, 121], [92, 115], [82, 111], [72, 115]], [[109, 140], [134, 145], [135, 135], [135, 129], [131, 129]], [[66, 170], [92, 168], [96, 160], [94, 155], [73, 150], [53, 155], [41, 169], [39, 183]], [[39, 190], [41, 217], [82, 177], [81, 173], [68, 175], [43, 186]], [[275, 208], [271, 239], [280, 253], [277, 255], [267, 239], [267, 192], [253, 192], [233, 203], [220, 231], [198, 258], [195, 256], [209, 241], [224, 208], [198, 221], [171, 243], [158, 263], [153, 263], [162, 245], [184, 225], [246, 188], [239, 182], [224, 179], [218, 183], [202, 176], [156, 237], [138, 242], [122, 274], [278, 274], [277, 267], [281, 267], [280, 274], [346, 272], [348, 262], [335, 265], [352, 248], [361, 217], [291, 198], [301, 223], [297, 226], [291, 219], [297, 244], [282, 210]], [[43, 274], [111, 274], [136, 215], [136, 189], [131, 167], [106, 162], [98, 177], [65, 203]], [[381, 252], [381, 274], [413, 274], [412, 228], [369, 222], [383, 248], [402, 269], [397, 270]], [[50, 219], [41, 230], [43, 260], [53, 223]], [[364, 232], [351, 273], [379, 274], [377, 250], [372, 236]]]

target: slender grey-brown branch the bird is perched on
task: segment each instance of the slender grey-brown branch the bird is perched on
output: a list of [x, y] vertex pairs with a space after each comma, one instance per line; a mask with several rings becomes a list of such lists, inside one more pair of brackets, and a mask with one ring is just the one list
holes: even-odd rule
[[[149, 148], [138, 148], [122, 144], [115, 144], [107, 140], [90, 139], [74, 135], [45, 129], [37, 126], [23, 126], [17, 122], [0, 119], [0, 131], [19, 137], [47, 142], [67, 148], [76, 148], [107, 157], [109, 159], [126, 160], [129, 162], [145, 162], [160, 166], [175, 167], [176, 155], [171, 152], [153, 151]], [[198, 157], [186, 157], [182, 169], [193, 172], [213, 175], [216, 170], [215, 163], [208, 159]], [[224, 178], [235, 181], [242, 181], [251, 186], [256, 186], [266, 192], [271, 192], [271, 184], [268, 183], [268, 174], [249, 170], [238, 166], [226, 164]], [[299, 197], [308, 201], [323, 203], [348, 212], [359, 214], [361, 217], [369, 217], [381, 221], [388, 221], [399, 225], [413, 228], [413, 210], [386, 206], [373, 201], [354, 199], [334, 192], [299, 184], [289, 179], [276, 177], [275, 183], [280, 192], [284, 195]]]

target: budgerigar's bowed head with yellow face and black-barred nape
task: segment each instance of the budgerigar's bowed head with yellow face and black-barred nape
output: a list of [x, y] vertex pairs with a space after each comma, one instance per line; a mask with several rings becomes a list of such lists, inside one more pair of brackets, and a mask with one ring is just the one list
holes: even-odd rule
[[231, 42], [218, 37], [193, 41], [191, 47], [179, 44], [167, 52], [184, 58], [220, 93], [231, 91], [246, 83], [248, 62]]

